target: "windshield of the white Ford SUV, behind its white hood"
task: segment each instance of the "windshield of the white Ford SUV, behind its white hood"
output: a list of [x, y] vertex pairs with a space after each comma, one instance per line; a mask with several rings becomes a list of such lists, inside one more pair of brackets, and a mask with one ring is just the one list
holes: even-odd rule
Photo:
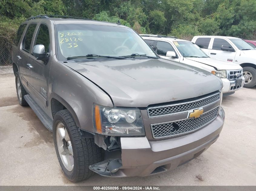
[[196, 44], [187, 41], [173, 41], [181, 55], [184, 57], [208, 57]]

